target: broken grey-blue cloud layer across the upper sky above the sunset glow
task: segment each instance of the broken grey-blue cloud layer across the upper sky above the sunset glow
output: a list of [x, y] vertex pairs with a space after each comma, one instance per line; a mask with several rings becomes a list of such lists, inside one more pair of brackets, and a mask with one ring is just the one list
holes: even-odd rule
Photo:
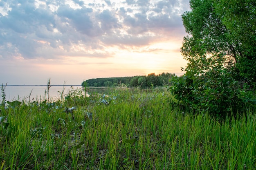
[[189, 0], [2, 0], [0, 6], [0, 60], [100, 58], [115, 54], [109, 46], [139, 48], [175, 37]]

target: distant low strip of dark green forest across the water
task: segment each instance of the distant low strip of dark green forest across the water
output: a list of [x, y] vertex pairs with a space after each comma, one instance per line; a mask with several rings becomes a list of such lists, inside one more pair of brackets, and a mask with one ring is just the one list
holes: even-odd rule
[[132, 77], [110, 77], [87, 79], [82, 82], [82, 86], [89, 87], [164, 87], [169, 86], [169, 79], [176, 76], [174, 73], [162, 73]]

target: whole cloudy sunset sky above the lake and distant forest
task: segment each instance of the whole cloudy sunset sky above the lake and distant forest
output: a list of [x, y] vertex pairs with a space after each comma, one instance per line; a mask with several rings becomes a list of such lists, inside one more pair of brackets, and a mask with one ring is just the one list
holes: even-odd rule
[[182, 75], [189, 0], [0, 0], [0, 83]]

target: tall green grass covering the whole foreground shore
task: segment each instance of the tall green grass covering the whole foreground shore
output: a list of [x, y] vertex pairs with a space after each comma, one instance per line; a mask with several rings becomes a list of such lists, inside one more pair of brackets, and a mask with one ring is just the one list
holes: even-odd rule
[[[171, 106], [161, 89], [113, 89], [104, 98], [81, 94], [1, 106], [9, 126], [0, 127], [0, 170], [256, 168], [254, 113], [223, 120], [186, 113]], [[76, 107], [74, 119], [65, 107]], [[124, 140], [135, 136], [134, 144]]]

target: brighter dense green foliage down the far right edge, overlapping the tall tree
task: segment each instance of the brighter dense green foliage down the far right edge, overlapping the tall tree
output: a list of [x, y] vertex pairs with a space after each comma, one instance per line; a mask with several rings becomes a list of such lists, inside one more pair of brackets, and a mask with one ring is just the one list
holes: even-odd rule
[[229, 30], [228, 37], [239, 44], [236, 64], [241, 77], [255, 86], [256, 77], [256, 1], [217, 0], [215, 11]]

